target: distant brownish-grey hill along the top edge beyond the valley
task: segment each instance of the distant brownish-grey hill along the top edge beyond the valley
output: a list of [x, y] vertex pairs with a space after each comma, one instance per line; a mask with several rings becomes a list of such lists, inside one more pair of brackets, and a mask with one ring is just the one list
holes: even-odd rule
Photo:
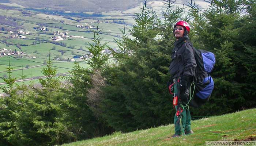
[[[6, 1], [6, 0], [5, 0]], [[124, 11], [136, 7], [142, 0], [9, 0], [30, 8], [54, 8], [65, 11]]]

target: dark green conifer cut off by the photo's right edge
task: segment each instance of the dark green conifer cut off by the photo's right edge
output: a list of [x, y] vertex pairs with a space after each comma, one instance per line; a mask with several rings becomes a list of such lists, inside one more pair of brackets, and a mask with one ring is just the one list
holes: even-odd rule
[[241, 28], [238, 32], [240, 40], [239, 51], [237, 53], [238, 76], [240, 76], [241, 92], [245, 97], [244, 105], [245, 108], [255, 107], [255, 95], [256, 95], [256, 66], [255, 66], [255, 55], [256, 55], [256, 4], [253, 0], [245, 1], [245, 15], [243, 19], [237, 24], [238, 28]]

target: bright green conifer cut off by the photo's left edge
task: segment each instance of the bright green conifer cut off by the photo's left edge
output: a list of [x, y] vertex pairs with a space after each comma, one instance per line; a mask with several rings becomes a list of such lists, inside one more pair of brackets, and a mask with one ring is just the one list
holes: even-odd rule
[[[7, 84], [7, 88], [0, 87], [7, 96], [0, 97], [0, 143], [3, 145], [25, 145], [27, 138], [23, 133], [21, 124], [21, 111], [24, 108], [24, 92], [26, 91], [23, 86], [24, 92], [21, 95], [18, 93], [18, 88], [14, 87], [16, 78], [11, 76], [12, 68], [9, 66], [6, 68], [8, 73], [7, 78], [3, 78]], [[24, 76], [22, 77], [24, 79]]]

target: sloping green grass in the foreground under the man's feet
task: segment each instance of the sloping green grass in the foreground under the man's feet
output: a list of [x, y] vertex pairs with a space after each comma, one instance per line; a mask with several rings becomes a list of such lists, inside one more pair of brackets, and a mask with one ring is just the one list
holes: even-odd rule
[[205, 141], [256, 138], [256, 109], [192, 121], [192, 135], [170, 138], [174, 125], [138, 130], [65, 144], [63, 146], [194, 146]]

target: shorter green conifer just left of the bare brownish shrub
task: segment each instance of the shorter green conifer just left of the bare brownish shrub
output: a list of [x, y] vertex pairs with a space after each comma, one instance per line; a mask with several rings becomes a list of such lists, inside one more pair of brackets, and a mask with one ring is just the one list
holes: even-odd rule
[[69, 124], [70, 130], [75, 134], [75, 140], [91, 138], [95, 134], [96, 128], [93, 112], [87, 104], [88, 89], [91, 88], [91, 71], [79, 65], [74, 64], [74, 70], [69, 72], [71, 76], [67, 79], [71, 83], [65, 91], [68, 116], [66, 121]]

